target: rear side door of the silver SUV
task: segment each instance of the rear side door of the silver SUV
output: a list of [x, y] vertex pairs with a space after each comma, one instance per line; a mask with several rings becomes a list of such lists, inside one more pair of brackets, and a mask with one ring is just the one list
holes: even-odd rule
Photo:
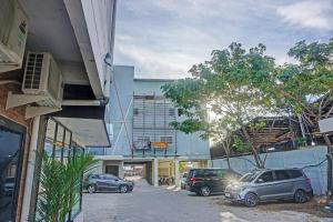
[[290, 180], [287, 170], [275, 170], [274, 174], [276, 199], [289, 198], [292, 194], [293, 181]]

